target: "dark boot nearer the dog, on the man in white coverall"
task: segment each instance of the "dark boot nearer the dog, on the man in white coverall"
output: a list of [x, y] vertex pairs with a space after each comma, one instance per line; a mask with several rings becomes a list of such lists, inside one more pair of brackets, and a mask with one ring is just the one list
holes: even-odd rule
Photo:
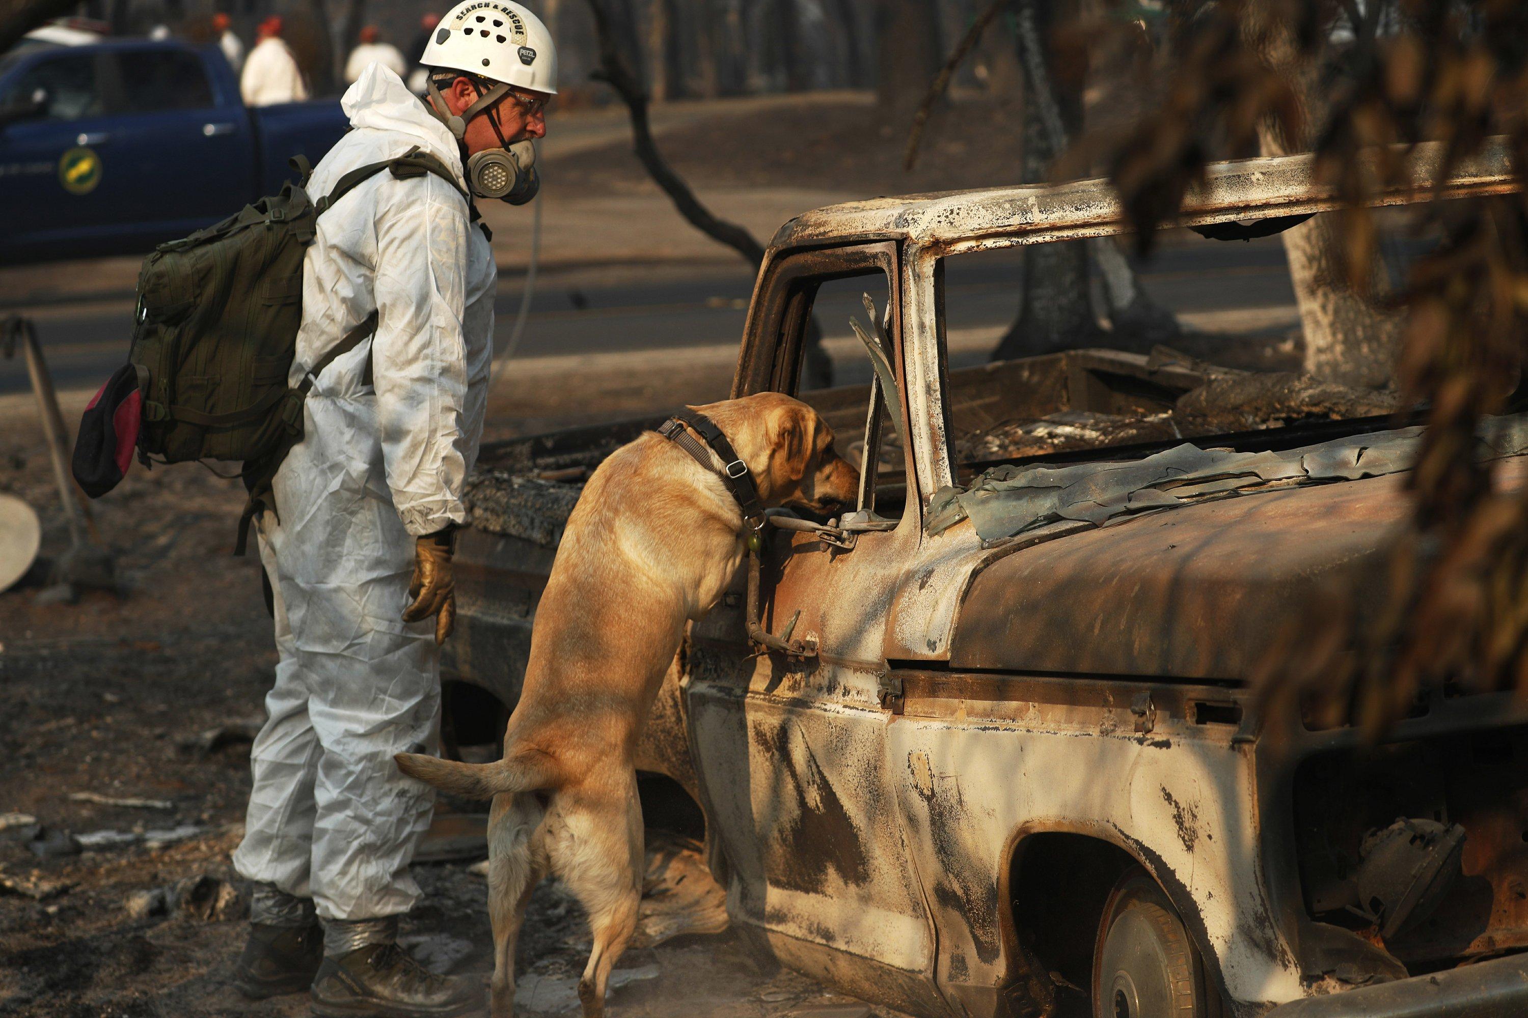
[[396, 943], [325, 954], [313, 977], [313, 1013], [322, 1018], [442, 1018], [483, 1007], [471, 977], [435, 975]]

